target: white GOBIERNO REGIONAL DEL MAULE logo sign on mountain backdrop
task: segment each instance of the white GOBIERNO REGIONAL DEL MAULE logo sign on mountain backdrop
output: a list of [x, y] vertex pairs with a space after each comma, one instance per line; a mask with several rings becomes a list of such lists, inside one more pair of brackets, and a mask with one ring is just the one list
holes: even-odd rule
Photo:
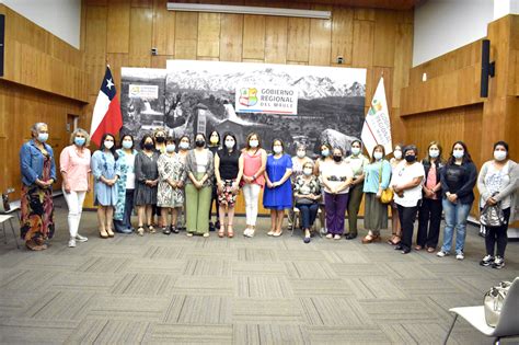
[[238, 113], [298, 114], [298, 92], [291, 87], [239, 85], [235, 111]]

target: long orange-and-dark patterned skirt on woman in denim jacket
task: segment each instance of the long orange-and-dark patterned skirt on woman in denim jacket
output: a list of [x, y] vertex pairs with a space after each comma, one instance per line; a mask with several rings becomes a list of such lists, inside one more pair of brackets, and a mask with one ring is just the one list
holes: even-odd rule
[[23, 240], [45, 241], [54, 235], [53, 191], [33, 184], [22, 186], [22, 220], [20, 233]]

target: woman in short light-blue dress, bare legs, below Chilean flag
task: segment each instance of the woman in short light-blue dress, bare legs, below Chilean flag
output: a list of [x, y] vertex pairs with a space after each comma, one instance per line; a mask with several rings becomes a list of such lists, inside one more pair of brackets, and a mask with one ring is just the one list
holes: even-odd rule
[[97, 207], [100, 237], [113, 238], [114, 206], [117, 204], [119, 179], [118, 154], [115, 151], [115, 137], [107, 133], [101, 138], [101, 148], [92, 154], [92, 174], [94, 175], [94, 205]]

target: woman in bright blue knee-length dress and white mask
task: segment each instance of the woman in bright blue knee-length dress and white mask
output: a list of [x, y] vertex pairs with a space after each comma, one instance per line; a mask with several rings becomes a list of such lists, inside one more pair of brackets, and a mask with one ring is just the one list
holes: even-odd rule
[[273, 141], [273, 154], [267, 158], [265, 180], [267, 187], [263, 194], [263, 207], [270, 209], [270, 231], [268, 235], [280, 237], [285, 209], [292, 208], [292, 160], [285, 153], [280, 139]]

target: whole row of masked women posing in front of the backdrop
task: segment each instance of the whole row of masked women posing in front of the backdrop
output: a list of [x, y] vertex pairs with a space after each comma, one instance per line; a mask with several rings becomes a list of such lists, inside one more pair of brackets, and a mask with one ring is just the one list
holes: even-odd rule
[[[22, 171], [22, 238], [31, 250], [46, 249], [46, 240], [53, 237], [51, 185], [56, 181], [54, 153], [46, 143], [48, 128], [38, 123], [32, 127], [33, 139], [23, 145]], [[237, 137], [210, 134], [210, 145], [204, 134], [194, 138], [194, 148], [187, 136], [166, 137], [163, 130], [145, 135], [136, 150], [130, 135], [120, 138], [116, 149], [115, 137], [105, 134], [101, 148], [92, 156], [89, 134], [77, 129], [71, 145], [60, 154], [62, 189], [69, 207], [69, 246], [88, 239], [79, 233], [82, 204], [93, 175], [94, 204], [97, 208], [100, 237], [111, 238], [115, 232], [155, 232], [155, 226], [164, 234], [178, 232], [178, 215], [185, 209], [187, 235], [208, 237], [209, 228], [216, 227], [219, 237], [234, 235], [233, 218], [237, 195], [243, 189], [245, 200], [245, 237], [254, 237], [258, 214], [258, 198], [264, 188], [263, 206], [270, 210], [268, 235], [282, 234], [285, 211], [300, 214], [304, 242], [312, 237], [314, 221], [321, 212], [325, 219], [326, 238], [338, 240], [345, 234], [353, 240], [358, 234], [357, 217], [365, 195], [365, 228], [368, 233], [362, 243], [381, 240], [380, 230], [388, 228], [388, 204], [382, 195], [392, 191], [391, 205], [393, 234], [389, 243], [402, 253], [412, 250], [414, 221], [418, 217], [415, 250], [435, 252], [440, 233], [441, 214], [446, 227], [443, 243], [437, 255], [450, 254], [455, 229], [455, 257], [464, 257], [466, 222], [474, 202], [473, 188], [477, 182], [480, 206], [500, 205], [506, 222], [487, 229], [486, 255], [483, 266], [504, 266], [506, 230], [508, 220], [515, 219], [518, 197], [517, 164], [509, 159], [508, 145], [499, 141], [494, 146], [494, 159], [486, 162], [480, 176], [462, 141], [457, 141], [443, 160], [438, 142], [431, 142], [426, 157], [418, 161], [418, 149], [413, 146], [395, 146], [391, 161], [384, 159], [383, 146], [362, 154], [359, 140], [351, 142], [351, 152], [345, 157], [339, 147], [322, 145], [320, 157], [311, 160], [307, 149], [297, 147], [296, 157], [285, 152], [280, 139], [272, 142], [267, 154], [257, 134], [250, 134], [245, 147], [240, 150]], [[217, 222], [210, 222], [214, 202], [218, 205]], [[134, 207], [138, 214], [138, 227], [132, 229], [130, 217]], [[345, 232], [345, 214], [348, 214], [348, 231]], [[154, 221], [154, 216], [160, 218]], [[171, 218], [169, 219], [171, 215]], [[226, 217], [227, 216], [227, 217]], [[322, 222], [323, 225], [323, 222]], [[497, 243], [497, 254], [494, 246]]]

